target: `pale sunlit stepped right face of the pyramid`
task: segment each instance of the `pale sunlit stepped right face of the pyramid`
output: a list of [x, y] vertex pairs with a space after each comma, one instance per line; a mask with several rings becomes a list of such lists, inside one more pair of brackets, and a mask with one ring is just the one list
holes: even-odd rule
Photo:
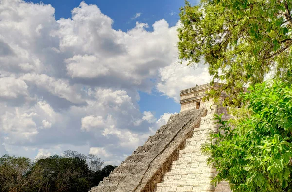
[[211, 184], [216, 170], [207, 165], [208, 156], [201, 150], [202, 144], [210, 142], [209, 134], [218, 132], [215, 113], [224, 113], [224, 119], [230, 118], [226, 108], [208, 109], [207, 115], [201, 117], [200, 127], [194, 129], [192, 138], [185, 141], [185, 148], [179, 150], [178, 159], [172, 162], [169, 172], [156, 184], [155, 192], [231, 192], [227, 182], [216, 187]]

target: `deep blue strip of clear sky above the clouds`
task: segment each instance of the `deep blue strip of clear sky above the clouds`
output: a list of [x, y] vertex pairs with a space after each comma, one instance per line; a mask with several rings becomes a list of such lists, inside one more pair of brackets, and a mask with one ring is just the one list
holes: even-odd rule
[[[56, 12], [56, 19], [71, 17], [71, 10], [78, 7], [81, 0], [26, 0], [28, 2], [51, 4]], [[113, 28], [127, 31], [135, 26], [135, 22], [147, 22], [151, 25], [160, 19], [165, 19], [170, 26], [179, 20], [179, 8], [184, 0], [85, 0], [87, 4], [96, 4], [102, 13], [114, 20]], [[197, 0], [190, 1], [196, 4]], [[136, 13], [141, 13], [137, 19], [132, 19]]]

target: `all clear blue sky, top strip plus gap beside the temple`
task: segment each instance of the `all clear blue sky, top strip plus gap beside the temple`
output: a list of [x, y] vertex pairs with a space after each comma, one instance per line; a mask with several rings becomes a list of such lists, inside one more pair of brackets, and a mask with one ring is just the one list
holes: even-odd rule
[[[55, 8], [55, 18], [70, 18], [71, 10], [78, 7], [81, 0], [26, 0], [33, 3], [51, 4]], [[153, 30], [152, 24], [160, 19], [165, 19], [169, 26], [174, 26], [179, 20], [179, 8], [184, 5], [184, 0], [85, 0], [87, 4], [96, 4], [102, 13], [114, 20], [113, 28], [127, 31], [135, 27], [136, 21], [148, 23]], [[196, 3], [196, 1], [193, 1]], [[141, 16], [134, 18], [137, 13]], [[162, 96], [156, 90], [151, 94], [140, 92], [140, 110], [152, 111], [156, 118], [165, 112], [179, 112], [180, 105]]]

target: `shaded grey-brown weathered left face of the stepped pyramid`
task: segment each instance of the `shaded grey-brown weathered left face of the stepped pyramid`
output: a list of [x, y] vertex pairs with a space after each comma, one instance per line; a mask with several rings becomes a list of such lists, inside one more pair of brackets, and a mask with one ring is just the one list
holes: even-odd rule
[[153, 192], [204, 115], [205, 109], [172, 115], [166, 125], [90, 192]]

